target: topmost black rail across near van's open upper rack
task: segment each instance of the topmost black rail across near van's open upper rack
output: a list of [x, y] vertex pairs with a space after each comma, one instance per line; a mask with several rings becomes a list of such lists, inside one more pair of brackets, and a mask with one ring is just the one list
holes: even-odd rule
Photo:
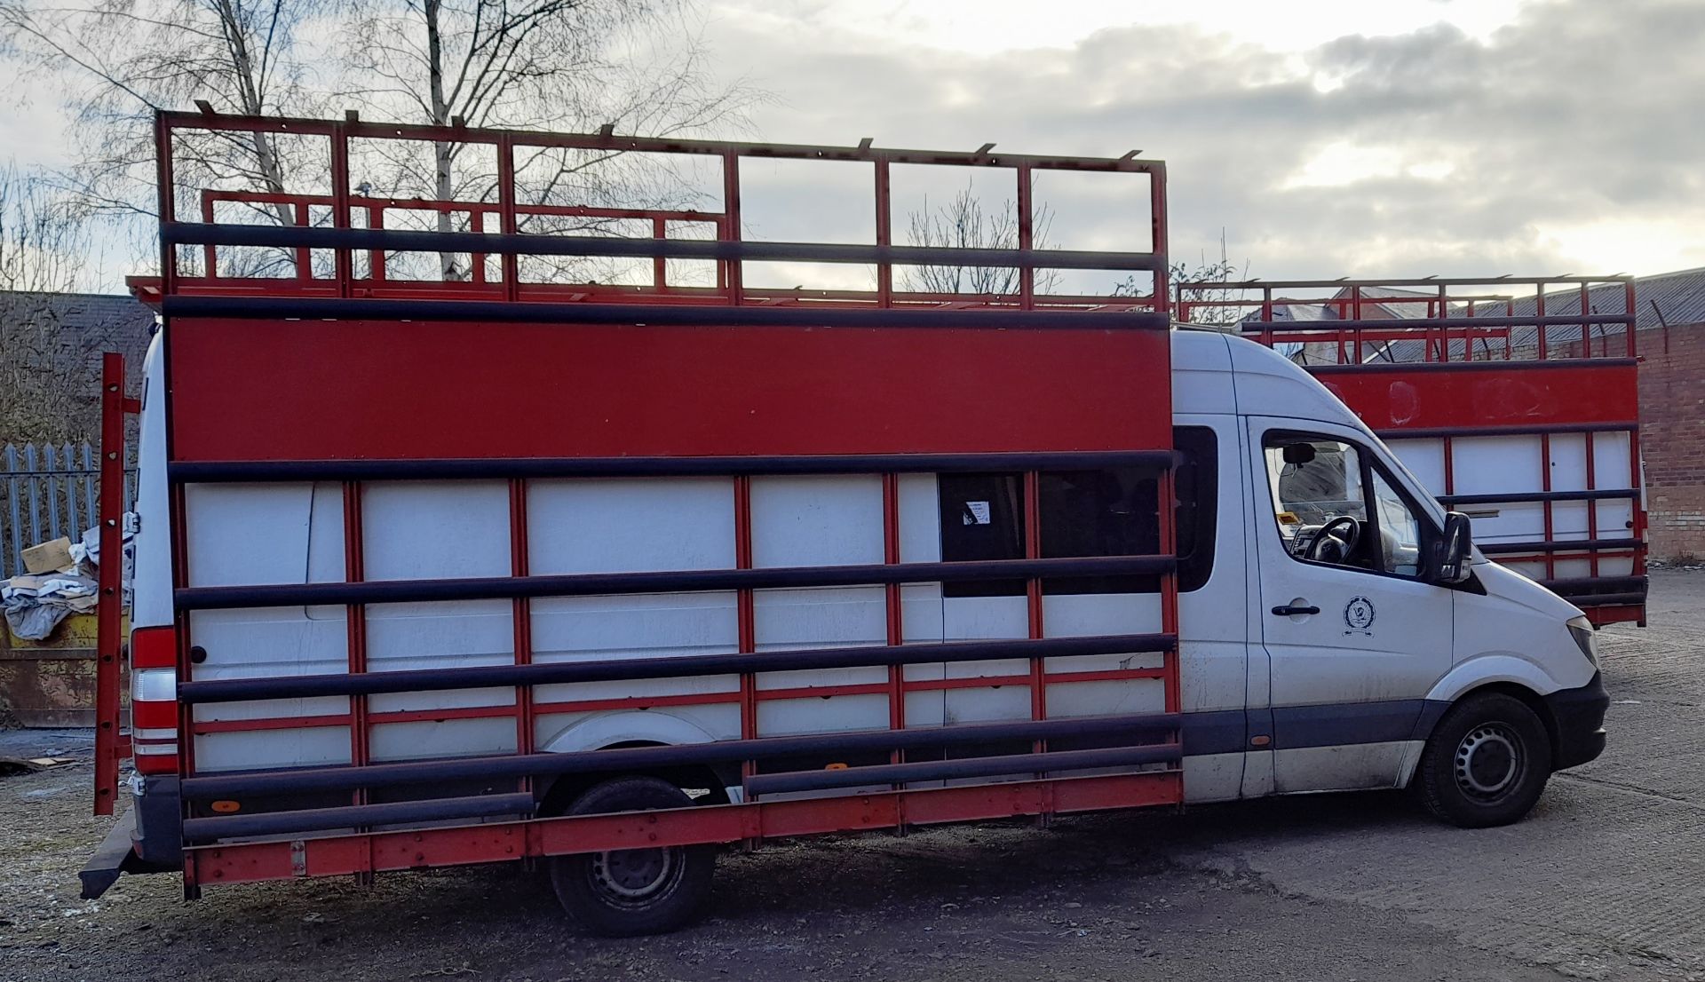
[[210, 225], [205, 222], [164, 222], [160, 225], [160, 237], [174, 246], [481, 252], [488, 256], [624, 256], [723, 263], [890, 263], [895, 266], [1151, 271], [1166, 266], [1166, 257], [1154, 252], [622, 239], [614, 235], [539, 235], [525, 232], [409, 232], [402, 228], [312, 228], [305, 225]]

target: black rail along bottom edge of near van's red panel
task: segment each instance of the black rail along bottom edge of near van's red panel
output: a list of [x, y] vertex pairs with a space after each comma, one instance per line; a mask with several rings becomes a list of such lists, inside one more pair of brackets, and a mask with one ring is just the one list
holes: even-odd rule
[[1173, 450], [1064, 453], [849, 453], [832, 457], [460, 457], [442, 460], [184, 460], [172, 481], [423, 481], [510, 477], [723, 477], [771, 474], [950, 474], [1175, 465]]

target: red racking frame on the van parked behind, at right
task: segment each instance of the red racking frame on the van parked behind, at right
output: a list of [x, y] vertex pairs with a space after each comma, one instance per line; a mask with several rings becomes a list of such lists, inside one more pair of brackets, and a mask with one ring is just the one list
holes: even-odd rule
[[[1548, 293], [1552, 286], [1565, 290]], [[1439, 501], [1446, 506], [1540, 505], [1543, 539], [1482, 544], [1482, 552], [1541, 563], [1543, 581], [1598, 624], [1645, 622], [1632, 278], [1180, 281], [1175, 292], [1180, 321], [1202, 310], [1236, 310], [1246, 314], [1240, 329], [1251, 339], [1270, 348], [1299, 346], [1303, 367], [1383, 438], [1439, 438], [1444, 452]], [[1318, 295], [1323, 292], [1330, 293]], [[1611, 310], [1596, 309], [1594, 300], [1603, 297], [1610, 297]], [[1546, 302], [1555, 310], [1560, 298], [1577, 312], [1546, 312]], [[1279, 317], [1294, 309], [1316, 309], [1325, 317]], [[1557, 341], [1557, 327], [1567, 327], [1570, 338]], [[1531, 331], [1531, 339], [1516, 344], [1523, 329]], [[1395, 344], [1408, 348], [1398, 356]], [[1601, 433], [1628, 435], [1628, 474], [1621, 488], [1598, 486], [1594, 436]], [[1550, 467], [1543, 467], [1540, 491], [1456, 493], [1456, 440], [1538, 436], [1541, 460], [1552, 460], [1552, 438], [1558, 435], [1584, 442], [1584, 489], [1553, 489]], [[1601, 537], [1598, 501], [1603, 500], [1630, 503], [1627, 535]], [[1586, 503], [1586, 539], [1557, 537], [1558, 501]], [[1558, 554], [1584, 557], [1589, 575], [1558, 578]], [[1632, 569], [1601, 575], [1603, 559], [1628, 559]]]

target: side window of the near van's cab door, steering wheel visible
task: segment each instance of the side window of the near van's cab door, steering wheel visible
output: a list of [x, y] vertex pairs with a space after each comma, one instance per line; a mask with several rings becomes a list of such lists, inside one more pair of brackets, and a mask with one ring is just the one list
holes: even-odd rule
[[1420, 520], [1354, 443], [1274, 431], [1262, 440], [1262, 452], [1274, 518], [1291, 557], [1420, 575]]

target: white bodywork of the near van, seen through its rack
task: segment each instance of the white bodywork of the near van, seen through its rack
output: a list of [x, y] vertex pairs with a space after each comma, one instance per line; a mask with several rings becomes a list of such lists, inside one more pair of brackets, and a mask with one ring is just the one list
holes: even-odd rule
[[[136, 610], [138, 626], [170, 624], [170, 511], [165, 496], [165, 413], [160, 343], [150, 348], [142, 421]], [[1185, 796], [1217, 801], [1284, 791], [1390, 786], [1407, 779], [1424, 733], [1371, 740], [1350, 733], [1393, 730], [1424, 702], [1442, 704], [1488, 682], [1538, 694], [1586, 684], [1594, 668], [1563, 621], [1577, 612], [1531, 580], [1475, 564], [1485, 595], [1354, 569], [1304, 566], [1282, 551], [1272, 493], [1260, 459], [1262, 426], [1318, 431], [1367, 448], [1432, 517], [1442, 508], [1378, 438], [1320, 382], [1258, 344], [1219, 332], [1173, 334], [1175, 425], [1214, 431], [1217, 501], [1207, 581], [1180, 593], [1182, 704], [1187, 716]], [[1430, 474], [1424, 453], [1415, 471]], [[344, 489], [336, 482], [191, 484], [184, 571], [189, 585], [343, 581]], [[367, 580], [508, 576], [510, 493], [501, 481], [370, 482], [361, 500]], [[907, 474], [899, 482], [900, 561], [941, 561], [939, 482]], [[735, 566], [726, 479], [537, 479], [527, 493], [527, 573], [624, 573]], [[881, 563], [880, 476], [762, 477], [752, 482], [755, 566]], [[1272, 539], [1270, 539], [1272, 537]], [[1378, 583], [1367, 583], [1379, 580]], [[1344, 636], [1303, 643], [1274, 604], [1323, 597], [1321, 624], [1342, 614], [1338, 593], [1373, 597], [1379, 641], [1350, 648]], [[1279, 597], [1279, 595], [1284, 597]], [[1330, 600], [1326, 593], [1332, 593]], [[905, 643], [1025, 638], [1023, 597], [946, 597], [941, 585], [907, 585]], [[1337, 607], [1332, 607], [1337, 604]], [[655, 658], [735, 648], [735, 595], [535, 598], [367, 607], [370, 672], [501, 665], [513, 658], [518, 610], [530, 619], [535, 663]], [[881, 588], [764, 590], [754, 598], [757, 648], [885, 644]], [[1151, 593], [1043, 597], [1047, 636], [1159, 631]], [[198, 680], [338, 673], [348, 668], [343, 607], [203, 610], [191, 615], [208, 656]], [[1332, 643], [1326, 643], [1332, 641]], [[1362, 639], [1367, 641], [1367, 639]], [[1158, 655], [1055, 658], [1050, 670], [1158, 665]], [[1011, 675], [1026, 661], [924, 663], [912, 680]], [[760, 690], [883, 682], [883, 668], [776, 672]], [[612, 743], [699, 743], [740, 736], [735, 702], [644, 706], [648, 697], [731, 694], [738, 679], [677, 679], [539, 685], [532, 742], [571, 752]], [[518, 748], [513, 689], [387, 694], [367, 701], [372, 757], [407, 760], [508, 754]], [[621, 704], [616, 704], [621, 702]], [[1156, 680], [1054, 684], [1050, 716], [1153, 713]], [[552, 708], [561, 708], [552, 711]], [[866, 730], [887, 725], [885, 694], [760, 701], [759, 735]], [[194, 738], [201, 772], [350, 762], [346, 697], [203, 706], [201, 723], [302, 718], [300, 728], [213, 731]], [[447, 718], [387, 721], [397, 711], [455, 711]], [[486, 713], [483, 713], [486, 711]], [[1030, 714], [1023, 685], [910, 692], [907, 726], [951, 726]], [[319, 721], [312, 719], [319, 718]], [[1287, 735], [1296, 740], [1287, 740]], [[1301, 736], [1299, 736], [1301, 735]], [[1267, 738], [1267, 740], [1262, 740]], [[1325, 740], [1325, 742], [1323, 742]], [[1194, 748], [1194, 750], [1192, 750]]]

